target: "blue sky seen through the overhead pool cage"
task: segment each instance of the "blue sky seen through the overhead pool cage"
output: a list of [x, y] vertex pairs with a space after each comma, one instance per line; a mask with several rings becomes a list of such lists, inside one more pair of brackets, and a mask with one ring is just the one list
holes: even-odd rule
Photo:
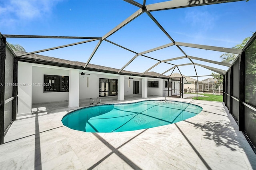
[[[143, 3], [143, 1], [138, 1]], [[146, 4], [162, 2], [147, 0]], [[47, 36], [93, 36], [102, 37], [138, 10], [122, 0], [1, 0], [0, 32], [2, 34]], [[176, 42], [196, 43], [219, 47], [234, 47], [252, 36], [256, 30], [256, 0], [231, 2], [190, 8], [151, 12]], [[108, 40], [135, 52], [170, 43], [171, 41], [144, 13], [113, 34]], [[65, 45], [84, 40], [65, 39], [17, 39], [8, 38], [13, 44], [22, 45], [27, 52]], [[38, 53], [73, 61], [86, 62], [98, 42]], [[222, 61], [222, 52], [181, 47], [187, 55]], [[160, 60], [180, 57], [176, 46], [145, 54]], [[134, 53], [102, 42], [90, 63], [120, 69]], [[157, 61], [137, 57], [125, 70], [144, 72]], [[174, 64], [189, 63], [188, 59], [173, 61]], [[194, 61], [211, 67], [227, 69], [202, 61]], [[161, 63], [151, 71], [162, 73], [172, 65]], [[196, 66], [199, 75], [212, 71]], [[182, 74], [196, 75], [192, 65], [180, 67]], [[178, 72], [178, 70], [174, 70]], [[170, 74], [171, 71], [166, 73]]]

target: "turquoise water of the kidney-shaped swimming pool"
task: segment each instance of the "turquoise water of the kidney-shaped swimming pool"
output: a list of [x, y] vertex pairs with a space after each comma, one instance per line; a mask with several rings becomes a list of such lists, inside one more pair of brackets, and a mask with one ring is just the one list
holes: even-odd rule
[[201, 111], [197, 105], [175, 101], [95, 105], [68, 113], [62, 123], [84, 132], [123, 132], [176, 123]]

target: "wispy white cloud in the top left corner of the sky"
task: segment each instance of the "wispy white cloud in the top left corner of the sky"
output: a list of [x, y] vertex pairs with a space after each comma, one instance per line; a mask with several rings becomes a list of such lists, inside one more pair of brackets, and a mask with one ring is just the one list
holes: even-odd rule
[[1, 0], [1, 25], [26, 23], [51, 14], [58, 0]]

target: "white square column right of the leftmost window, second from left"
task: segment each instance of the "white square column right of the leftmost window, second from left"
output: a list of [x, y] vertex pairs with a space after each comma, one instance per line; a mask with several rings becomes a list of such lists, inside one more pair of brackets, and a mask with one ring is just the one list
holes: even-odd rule
[[69, 71], [68, 108], [79, 107], [79, 70]]

